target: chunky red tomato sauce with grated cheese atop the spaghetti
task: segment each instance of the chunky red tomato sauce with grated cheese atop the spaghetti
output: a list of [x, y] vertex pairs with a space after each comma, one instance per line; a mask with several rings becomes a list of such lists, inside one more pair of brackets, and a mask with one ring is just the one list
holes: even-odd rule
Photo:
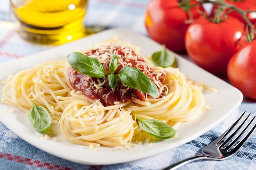
[[[124, 66], [132, 66], [138, 68], [145, 73], [153, 82], [157, 81], [159, 86], [162, 86], [164, 81], [164, 74], [157, 75], [150, 66], [146, 64], [143, 57], [137, 55], [130, 47], [125, 46], [102, 46], [97, 49], [92, 49], [84, 53], [89, 57], [97, 58], [101, 64], [109, 73], [108, 66], [112, 55], [117, 55], [119, 60], [119, 66], [115, 71], [117, 74]], [[108, 85], [108, 78], [93, 78], [88, 75], [83, 75], [74, 68], [70, 67], [68, 70], [70, 84], [77, 91], [81, 91], [85, 97], [91, 99], [100, 99], [103, 106], [114, 105], [114, 102], [126, 102], [132, 100], [135, 97], [141, 101], [146, 101], [146, 94], [141, 91], [130, 88], [120, 81], [117, 83], [117, 87], [113, 90]], [[154, 81], [155, 79], [155, 81]], [[159, 88], [159, 87], [158, 87]], [[148, 95], [149, 96], [149, 95]], [[159, 97], [162, 95], [160, 94]]]

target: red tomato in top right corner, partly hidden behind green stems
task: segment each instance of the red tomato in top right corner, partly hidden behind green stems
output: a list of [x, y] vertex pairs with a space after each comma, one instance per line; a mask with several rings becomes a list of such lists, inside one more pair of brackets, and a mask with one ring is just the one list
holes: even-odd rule
[[[233, 4], [236, 7], [243, 9], [243, 10], [256, 10], [256, 0], [237, 0], [237, 1], [225, 0], [225, 2], [227, 2], [229, 4]], [[214, 16], [218, 9], [219, 9], [219, 6], [214, 5], [211, 16]], [[228, 11], [228, 9], [226, 11]], [[221, 15], [223, 16], [224, 14], [225, 13], [222, 13]], [[233, 16], [233, 17], [237, 18], [238, 20], [240, 20], [241, 22], [243, 22], [245, 25], [247, 25], [247, 22], [236, 11], [232, 11], [231, 13], [229, 13], [229, 16]], [[256, 13], [255, 12], [247, 13], [246, 16], [253, 24], [256, 23]]]

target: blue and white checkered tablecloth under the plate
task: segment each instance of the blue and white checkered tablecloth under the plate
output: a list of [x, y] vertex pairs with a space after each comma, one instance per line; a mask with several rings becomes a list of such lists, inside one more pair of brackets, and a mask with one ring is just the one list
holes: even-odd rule
[[[149, 0], [90, 0], [87, 25], [126, 27], [146, 34], [144, 11]], [[0, 62], [48, 49], [30, 44], [15, 32], [9, 13], [9, 0], [0, 1]], [[0, 106], [1, 107], [1, 106]], [[195, 155], [216, 139], [244, 111], [256, 115], [256, 103], [244, 100], [225, 121], [188, 143], [152, 157], [109, 166], [90, 166], [66, 161], [23, 141], [0, 123], [0, 170], [160, 170], [176, 161]], [[256, 170], [256, 132], [234, 157], [225, 161], [198, 161], [180, 170]]]

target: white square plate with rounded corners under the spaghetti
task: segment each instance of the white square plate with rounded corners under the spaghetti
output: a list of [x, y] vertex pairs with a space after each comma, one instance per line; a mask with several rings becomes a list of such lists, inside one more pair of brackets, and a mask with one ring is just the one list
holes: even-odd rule
[[[85, 49], [87, 46], [97, 44], [103, 40], [108, 40], [115, 35], [121, 35], [123, 41], [131, 42], [132, 44], [141, 47], [141, 54], [144, 54], [144, 56], [151, 56], [153, 52], [162, 49], [160, 44], [133, 31], [126, 29], [110, 29], [28, 57], [4, 62], [0, 64], [0, 78], [4, 80], [8, 77], [11, 71], [20, 71], [22, 69], [31, 68], [36, 63], [65, 59], [67, 54], [73, 51]], [[218, 89], [218, 93], [204, 93], [205, 104], [209, 104], [214, 109], [204, 111], [192, 121], [182, 123], [177, 129], [178, 136], [176, 138], [153, 143], [150, 146], [138, 145], [131, 150], [113, 151], [113, 148], [110, 147], [100, 147], [97, 148], [97, 150], [92, 151], [89, 150], [88, 147], [68, 142], [61, 133], [57, 136], [58, 138], [63, 139], [63, 141], [60, 142], [56, 142], [53, 139], [40, 139], [36, 136], [36, 131], [30, 124], [27, 116], [14, 106], [7, 104], [0, 105], [0, 121], [22, 139], [37, 148], [57, 157], [78, 163], [91, 165], [122, 163], [149, 157], [165, 150], [169, 150], [202, 135], [219, 124], [220, 121], [225, 119], [225, 117], [240, 105], [243, 99], [242, 93], [230, 84], [178, 55], [176, 55], [176, 58], [180, 71], [185, 73], [190, 79], [195, 81], [203, 80], [204, 84]], [[0, 86], [0, 89], [2, 88], [3, 85]], [[15, 112], [8, 113], [10, 108], [14, 108]]]

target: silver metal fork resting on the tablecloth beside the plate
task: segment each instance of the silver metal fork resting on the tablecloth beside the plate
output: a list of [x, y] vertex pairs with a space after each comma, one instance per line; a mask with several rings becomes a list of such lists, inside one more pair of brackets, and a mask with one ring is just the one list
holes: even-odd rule
[[[234, 140], [232, 140], [235, 137], [235, 135], [239, 132], [239, 130], [242, 128], [242, 126], [245, 125], [245, 122], [247, 121], [251, 113], [249, 113], [249, 115], [247, 115], [243, 122], [235, 129], [235, 126], [244, 117], [244, 115], [245, 111], [222, 135], [220, 135], [220, 137], [218, 137], [215, 141], [211, 142], [209, 145], [202, 148], [200, 153], [193, 157], [189, 157], [180, 162], [177, 162], [171, 166], [168, 166], [163, 170], [175, 170], [187, 163], [197, 161], [200, 159], [211, 159], [220, 161], [233, 156], [243, 146], [245, 141], [250, 137], [250, 135], [252, 135], [256, 128], [256, 124], [254, 124], [254, 126], [249, 130], [247, 135], [245, 135], [243, 139], [240, 142], [238, 142], [238, 140], [245, 134], [245, 131], [248, 129], [248, 127], [252, 124], [252, 121], [255, 119], [254, 116], [245, 126], [245, 128], [243, 128], [243, 130], [237, 135], [237, 137]], [[230, 133], [233, 129], [234, 132]], [[229, 134], [230, 136], [227, 139], [225, 139]], [[237, 142], [238, 144], [236, 144]]]

